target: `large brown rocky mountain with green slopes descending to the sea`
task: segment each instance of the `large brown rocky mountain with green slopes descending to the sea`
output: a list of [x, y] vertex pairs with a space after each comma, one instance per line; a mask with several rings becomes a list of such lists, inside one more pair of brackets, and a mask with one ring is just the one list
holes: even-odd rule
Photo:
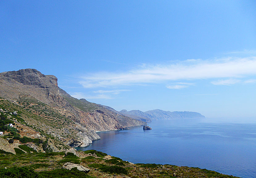
[[[95, 131], [145, 124], [85, 99], [73, 98], [58, 87], [57, 81], [56, 76], [36, 69], [2, 72], [0, 107], [17, 111], [23, 125], [71, 147], [88, 146], [100, 139]], [[51, 147], [58, 151], [58, 146]]]

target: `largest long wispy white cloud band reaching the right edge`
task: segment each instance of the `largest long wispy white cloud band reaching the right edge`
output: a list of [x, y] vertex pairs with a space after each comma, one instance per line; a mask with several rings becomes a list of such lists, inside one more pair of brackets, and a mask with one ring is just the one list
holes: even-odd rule
[[[101, 72], [81, 76], [85, 88], [120, 85], [142, 85], [175, 80], [241, 78], [256, 74], [256, 57], [222, 58], [215, 60], [190, 60], [169, 65], [147, 65], [127, 72]], [[234, 80], [234, 79], [233, 79]], [[231, 83], [230, 83], [231, 82]], [[225, 80], [224, 84], [232, 84]], [[234, 81], [233, 81], [234, 82]], [[221, 84], [221, 82], [219, 82]], [[217, 84], [217, 82], [213, 82]], [[179, 86], [177, 86], [178, 88]]]

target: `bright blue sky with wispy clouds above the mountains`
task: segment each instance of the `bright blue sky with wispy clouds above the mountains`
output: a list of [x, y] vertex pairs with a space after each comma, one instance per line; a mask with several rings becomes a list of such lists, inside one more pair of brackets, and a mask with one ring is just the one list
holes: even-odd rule
[[256, 116], [255, 1], [1, 1], [1, 70], [116, 110]]

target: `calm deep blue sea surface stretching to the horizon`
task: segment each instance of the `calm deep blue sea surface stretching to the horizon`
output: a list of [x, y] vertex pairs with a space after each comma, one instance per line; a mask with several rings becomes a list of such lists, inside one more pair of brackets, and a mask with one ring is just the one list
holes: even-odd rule
[[130, 130], [97, 132], [95, 149], [133, 163], [199, 167], [256, 178], [256, 118], [159, 120]]

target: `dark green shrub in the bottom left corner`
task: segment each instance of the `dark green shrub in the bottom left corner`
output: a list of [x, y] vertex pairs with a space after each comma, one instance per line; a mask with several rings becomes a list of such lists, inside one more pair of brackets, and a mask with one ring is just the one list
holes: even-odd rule
[[1, 178], [40, 178], [39, 174], [29, 167], [13, 167], [7, 169], [0, 169]]

